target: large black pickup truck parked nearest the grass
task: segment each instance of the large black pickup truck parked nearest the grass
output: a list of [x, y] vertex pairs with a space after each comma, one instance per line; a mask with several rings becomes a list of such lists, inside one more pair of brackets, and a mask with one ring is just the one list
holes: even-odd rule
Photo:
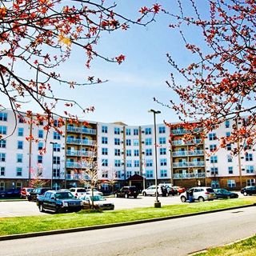
[[52, 210], [55, 213], [82, 210], [82, 200], [74, 198], [70, 191], [48, 190], [38, 195], [37, 206], [39, 211]]

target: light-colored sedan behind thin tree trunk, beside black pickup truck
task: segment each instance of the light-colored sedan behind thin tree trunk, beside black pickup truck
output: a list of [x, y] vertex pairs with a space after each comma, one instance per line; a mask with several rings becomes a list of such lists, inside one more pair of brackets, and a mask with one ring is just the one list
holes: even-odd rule
[[91, 194], [86, 194], [80, 197], [82, 200], [83, 209], [92, 209], [93, 199], [94, 199], [94, 208], [100, 210], [114, 210], [114, 202], [109, 202], [102, 195], [96, 194], [94, 197]]

